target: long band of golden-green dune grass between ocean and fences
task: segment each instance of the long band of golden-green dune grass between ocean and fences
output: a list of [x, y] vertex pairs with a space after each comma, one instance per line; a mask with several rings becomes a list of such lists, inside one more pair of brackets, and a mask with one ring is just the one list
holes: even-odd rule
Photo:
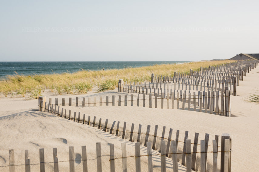
[[[152, 65], [139, 68], [109, 69], [98, 71], [81, 70], [75, 73], [62, 73], [50, 75], [8, 75], [6, 80], [0, 81], [0, 93], [5, 97], [19, 94], [25, 97], [36, 92], [49, 89], [58, 94], [83, 94], [98, 86], [98, 91], [114, 89], [118, 79], [132, 82], [151, 81], [151, 74], [174, 75], [174, 72], [188, 73], [190, 69], [200, 70], [200, 67], [222, 65], [234, 62], [233, 60], [200, 61], [183, 64]], [[38, 97], [38, 96], [33, 96]]]

